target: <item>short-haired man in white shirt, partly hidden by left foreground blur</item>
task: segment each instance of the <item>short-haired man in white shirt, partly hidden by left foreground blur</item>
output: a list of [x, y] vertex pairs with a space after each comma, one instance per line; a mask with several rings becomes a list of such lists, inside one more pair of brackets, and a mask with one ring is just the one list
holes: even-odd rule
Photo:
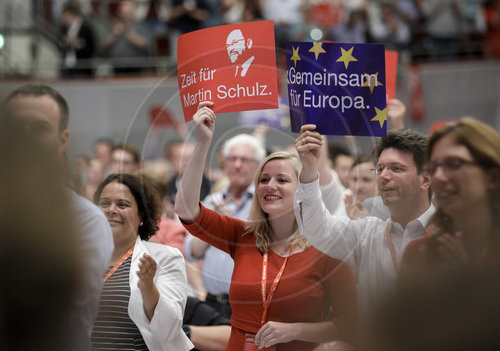
[[[9, 117], [58, 160], [57, 180], [65, 182], [65, 150], [69, 140], [69, 108], [64, 97], [44, 84], [26, 84], [14, 90], [6, 100]], [[40, 191], [42, 191], [40, 189]], [[32, 193], [34, 197], [38, 192]], [[106, 217], [87, 199], [66, 189], [67, 201], [75, 221], [77, 250], [83, 259], [83, 275], [73, 300], [73, 315], [68, 322], [72, 350], [90, 350], [90, 334], [97, 314], [102, 274], [113, 251], [111, 229]], [[71, 233], [68, 233], [70, 235]]]

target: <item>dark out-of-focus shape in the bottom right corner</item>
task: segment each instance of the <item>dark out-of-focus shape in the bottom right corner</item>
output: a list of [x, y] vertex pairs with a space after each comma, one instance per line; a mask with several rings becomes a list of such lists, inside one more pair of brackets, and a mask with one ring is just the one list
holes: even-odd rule
[[497, 258], [481, 269], [404, 279], [375, 313], [370, 350], [500, 350], [498, 272]]

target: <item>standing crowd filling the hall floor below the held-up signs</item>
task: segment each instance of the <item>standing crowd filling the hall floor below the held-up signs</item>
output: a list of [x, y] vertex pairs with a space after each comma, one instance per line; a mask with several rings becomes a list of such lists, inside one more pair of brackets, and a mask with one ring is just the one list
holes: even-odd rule
[[[209, 157], [211, 106], [193, 116], [196, 140], [172, 140], [162, 159], [103, 138], [75, 176], [64, 97], [33, 83], [7, 96], [2, 142], [17, 156], [6, 154], [2, 197], [16, 200], [2, 208], [32, 223], [21, 247], [5, 240], [6, 264], [23, 259], [2, 287], [5, 349], [499, 346], [497, 131], [464, 117], [425, 137], [403, 128], [399, 106], [371, 154], [306, 124], [289, 148], [237, 134]], [[35, 267], [47, 284], [27, 284]]]

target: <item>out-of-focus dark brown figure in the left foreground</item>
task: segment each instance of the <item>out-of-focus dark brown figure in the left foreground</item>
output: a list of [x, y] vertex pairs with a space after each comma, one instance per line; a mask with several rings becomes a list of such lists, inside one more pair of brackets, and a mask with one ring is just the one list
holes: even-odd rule
[[[74, 347], [83, 280], [75, 216], [60, 160], [0, 111], [0, 349]], [[33, 176], [36, 174], [36, 176]]]

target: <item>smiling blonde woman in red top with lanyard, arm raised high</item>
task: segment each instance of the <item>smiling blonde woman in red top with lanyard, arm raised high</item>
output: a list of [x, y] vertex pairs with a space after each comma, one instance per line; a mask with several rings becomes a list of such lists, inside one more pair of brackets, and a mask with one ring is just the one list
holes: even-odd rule
[[262, 161], [248, 223], [200, 204], [196, 189], [215, 129], [212, 105], [200, 103], [193, 116], [198, 141], [180, 180], [175, 210], [190, 233], [234, 260], [227, 350], [307, 351], [330, 340], [353, 343], [357, 293], [352, 271], [297, 231], [297, 156], [279, 152]]

